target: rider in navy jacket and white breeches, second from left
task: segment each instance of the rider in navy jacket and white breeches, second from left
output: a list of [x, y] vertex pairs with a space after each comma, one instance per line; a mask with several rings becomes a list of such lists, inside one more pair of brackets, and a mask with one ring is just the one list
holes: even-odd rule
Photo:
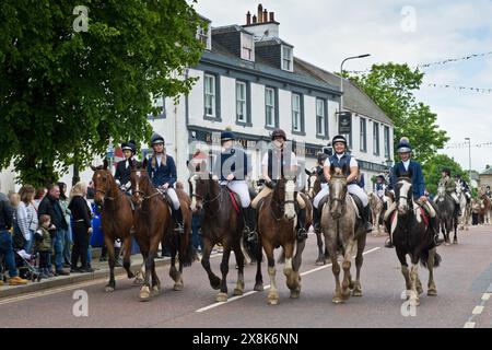
[[177, 180], [176, 164], [174, 163], [174, 159], [166, 154], [164, 138], [159, 133], [152, 135], [151, 145], [154, 152], [152, 153], [150, 162], [147, 165], [147, 172], [149, 173], [154, 187], [164, 191], [168, 198], [168, 201], [171, 201], [169, 205], [172, 215], [177, 224], [177, 228], [174, 231], [183, 234], [183, 212], [179, 205], [179, 199], [173, 188], [173, 185]]

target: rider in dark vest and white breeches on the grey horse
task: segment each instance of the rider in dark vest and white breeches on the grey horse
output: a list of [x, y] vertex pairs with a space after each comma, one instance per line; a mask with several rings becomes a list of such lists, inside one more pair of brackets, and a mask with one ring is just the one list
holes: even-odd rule
[[[365, 223], [365, 230], [367, 232], [371, 232], [373, 230], [373, 225], [370, 222], [370, 218], [371, 218], [371, 209], [368, 206], [368, 198], [367, 198], [367, 194], [364, 191], [364, 189], [362, 189], [359, 185], [358, 185], [358, 173], [359, 173], [359, 164], [358, 161], [355, 160], [355, 158], [350, 154], [350, 152], [347, 151], [347, 139], [341, 136], [341, 135], [337, 135], [336, 137], [333, 137], [331, 144], [335, 148], [335, 154], [331, 155], [330, 158], [328, 158], [325, 162], [325, 166], [324, 166], [324, 174], [327, 180], [330, 179], [330, 166], [331, 164], [333, 164], [336, 167], [342, 168], [343, 165], [347, 165], [347, 184], [348, 184], [348, 190], [349, 194], [356, 196], [363, 206], [363, 210], [362, 210], [362, 220]], [[314, 215], [317, 220], [317, 222], [319, 222], [320, 217], [321, 217], [321, 212], [320, 209], [318, 208], [319, 202], [321, 201], [321, 199], [329, 195], [329, 187], [326, 186], [325, 188], [323, 188], [315, 197], [313, 206], [315, 207], [314, 212], [316, 212], [316, 214]]]

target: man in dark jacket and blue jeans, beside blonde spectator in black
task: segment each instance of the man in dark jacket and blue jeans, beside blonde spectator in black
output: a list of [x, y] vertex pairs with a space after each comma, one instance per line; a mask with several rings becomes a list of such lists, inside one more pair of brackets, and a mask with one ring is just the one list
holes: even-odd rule
[[[55, 268], [57, 276], [67, 276], [69, 272], [63, 270], [63, 232], [68, 230], [67, 221], [65, 220], [63, 211], [60, 202], [60, 188], [58, 185], [50, 185], [48, 194], [43, 198], [37, 210], [40, 218], [47, 214], [51, 218], [51, 223], [56, 228], [56, 235], [52, 237], [52, 245], [55, 250]], [[48, 262], [48, 269], [51, 269], [51, 261]]]

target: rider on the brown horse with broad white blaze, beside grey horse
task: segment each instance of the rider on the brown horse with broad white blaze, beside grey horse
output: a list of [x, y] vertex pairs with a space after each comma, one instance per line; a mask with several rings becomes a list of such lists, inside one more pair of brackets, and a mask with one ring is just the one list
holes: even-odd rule
[[[265, 153], [261, 161], [261, 174], [265, 179], [265, 186], [260, 192], [255, 197], [251, 202], [251, 207], [257, 209], [260, 199], [267, 197], [273, 191], [277, 180], [279, 180], [284, 173], [297, 174], [298, 164], [297, 158], [294, 152], [289, 152], [285, 147], [286, 135], [282, 129], [276, 129], [271, 133], [271, 140], [273, 141], [273, 148], [269, 149]], [[296, 202], [300, 208], [297, 217], [297, 238], [307, 238], [307, 232], [305, 229], [306, 223], [306, 203], [302, 196], [296, 196]]]

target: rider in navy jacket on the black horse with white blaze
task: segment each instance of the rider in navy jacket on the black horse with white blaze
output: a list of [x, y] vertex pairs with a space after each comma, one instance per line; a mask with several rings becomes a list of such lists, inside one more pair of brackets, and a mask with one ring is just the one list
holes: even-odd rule
[[[412, 180], [412, 189], [413, 189], [413, 199], [418, 205], [422, 206], [426, 209], [430, 217], [430, 228], [434, 232], [434, 242], [435, 245], [441, 245], [443, 240], [438, 238], [438, 230], [436, 228], [436, 213], [432, 203], [427, 200], [427, 197], [424, 195], [425, 184], [424, 177], [422, 174], [422, 166], [419, 162], [411, 160], [412, 148], [410, 145], [410, 141], [408, 138], [403, 137], [400, 139], [400, 142], [397, 145], [397, 153], [401, 159], [401, 162], [398, 162], [393, 167], [393, 173], [389, 180], [389, 190], [395, 190], [396, 183], [398, 177], [400, 176], [410, 176]], [[388, 221], [391, 213], [396, 210], [397, 203], [394, 202], [389, 209], [385, 213], [385, 222]], [[393, 248], [391, 233], [389, 234], [389, 238], [385, 243], [385, 247]]]

